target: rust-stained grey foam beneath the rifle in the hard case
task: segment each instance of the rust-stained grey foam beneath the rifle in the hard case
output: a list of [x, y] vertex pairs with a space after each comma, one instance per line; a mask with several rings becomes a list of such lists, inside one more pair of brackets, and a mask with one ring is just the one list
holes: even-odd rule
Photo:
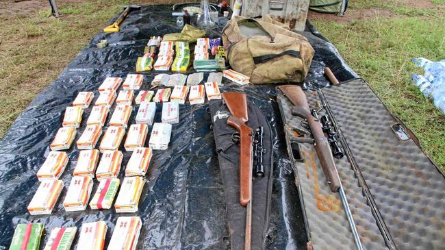
[[[301, 125], [303, 118], [292, 116], [292, 104], [281, 95], [280, 90], [277, 89], [277, 92], [288, 151], [294, 167], [301, 203], [304, 204], [302, 205], [303, 214], [305, 214], [308, 238], [312, 241], [312, 246], [314, 249], [357, 249], [340, 195], [329, 189], [314, 146], [309, 143], [292, 142], [298, 134], [301, 134], [296, 131], [305, 130]], [[317, 92], [307, 92], [307, 100], [310, 108], [315, 108], [315, 103], [318, 101]], [[319, 114], [322, 116], [325, 112]], [[364, 249], [387, 249], [351, 164], [346, 156], [340, 160], [335, 159], [335, 164]]]

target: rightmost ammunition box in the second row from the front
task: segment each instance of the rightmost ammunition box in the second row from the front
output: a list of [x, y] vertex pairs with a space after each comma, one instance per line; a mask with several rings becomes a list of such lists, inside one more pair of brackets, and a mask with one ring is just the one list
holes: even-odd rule
[[125, 177], [114, 204], [116, 212], [138, 212], [138, 204], [145, 179], [140, 176]]

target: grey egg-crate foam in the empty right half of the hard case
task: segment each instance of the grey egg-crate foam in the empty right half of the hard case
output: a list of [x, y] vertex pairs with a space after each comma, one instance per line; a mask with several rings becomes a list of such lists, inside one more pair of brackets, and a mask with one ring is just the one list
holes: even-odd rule
[[414, 140], [398, 139], [397, 119], [363, 80], [322, 93], [396, 247], [445, 249], [443, 173]]

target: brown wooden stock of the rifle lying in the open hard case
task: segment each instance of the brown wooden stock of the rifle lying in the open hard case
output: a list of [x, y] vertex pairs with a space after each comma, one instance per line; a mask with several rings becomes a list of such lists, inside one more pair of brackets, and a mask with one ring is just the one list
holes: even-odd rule
[[309, 128], [311, 129], [312, 136], [314, 136], [314, 147], [323, 168], [323, 172], [325, 172], [329, 188], [331, 188], [332, 192], [338, 192], [338, 188], [340, 188], [340, 177], [338, 177], [337, 168], [335, 168], [331, 146], [329, 145], [325, 133], [323, 133], [320, 122], [311, 114], [305, 93], [300, 86], [296, 85], [282, 85], [278, 88], [295, 106], [294, 109], [292, 109], [292, 114], [306, 119], [307, 125], [309, 125]]

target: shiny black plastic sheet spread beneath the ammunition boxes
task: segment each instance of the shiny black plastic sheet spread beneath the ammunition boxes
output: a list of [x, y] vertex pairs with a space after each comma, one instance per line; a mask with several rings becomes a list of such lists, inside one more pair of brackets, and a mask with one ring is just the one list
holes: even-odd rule
[[[117, 16], [113, 21], [116, 18]], [[224, 25], [225, 22], [220, 23], [207, 36], [219, 36]], [[206, 111], [208, 104], [181, 105], [180, 123], [173, 125], [168, 150], [155, 151], [153, 154], [138, 212], [116, 214], [114, 209], [98, 211], [89, 208], [85, 212], [64, 212], [62, 201], [67, 187], [51, 215], [31, 216], [26, 209], [38, 188], [36, 172], [49, 153], [49, 144], [55, 132], [62, 126], [66, 106], [71, 105], [77, 93], [93, 91], [97, 99], [97, 88], [105, 77], [125, 77], [127, 73], [134, 73], [136, 60], [142, 55], [150, 36], [163, 36], [180, 30], [175, 25], [175, 18], [171, 16], [170, 5], [151, 5], [130, 12], [120, 25], [119, 33], [99, 33], [94, 36], [60, 77], [42, 90], [18, 116], [0, 141], [0, 249], [9, 247], [15, 226], [27, 222], [44, 224], [44, 245], [53, 227], [75, 225], [79, 229], [82, 223], [105, 221], [108, 226], [106, 247], [119, 216], [142, 218], [143, 228], [137, 249], [229, 247], [227, 211], [214, 136], [210, 129], [211, 121]], [[316, 54], [305, 84], [314, 88], [326, 86], [328, 82], [322, 73], [325, 65], [333, 69], [340, 81], [355, 77], [355, 73], [340, 58], [333, 45], [310, 30], [309, 27], [305, 35]], [[104, 38], [110, 43], [109, 47], [97, 49], [95, 44]], [[144, 73], [142, 90], [149, 88], [149, 83], [157, 73], [160, 72]], [[249, 100], [266, 114], [272, 127], [275, 140], [274, 183], [266, 246], [268, 249], [303, 249], [307, 240], [306, 232], [294, 184], [294, 173], [285, 149], [275, 86], [239, 87], [229, 84], [227, 79], [223, 83], [225, 86], [220, 88], [222, 92], [245, 92]], [[138, 108], [136, 105], [133, 107], [129, 123], [135, 123]], [[160, 121], [160, 108], [158, 106], [155, 121]], [[110, 114], [112, 111], [113, 109]], [[86, 110], [75, 140], [83, 132], [89, 112], [90, 109]], [[109, 119], [110, 115], [107, 122]], [[122, 179], [123, 169], [131, 154], [125, 152], [123, 147], [120, 150], [125, 155], [119, 175]], [[71, 180], [78, 151], [72, 146], [67, 153], [70, 162], [61, 177], [66, 186]], [[93, 193], [96, 188], [97, 181], [94, 182]], [[77, 237], [78, 234], [74, 246], [77, 244]]]

